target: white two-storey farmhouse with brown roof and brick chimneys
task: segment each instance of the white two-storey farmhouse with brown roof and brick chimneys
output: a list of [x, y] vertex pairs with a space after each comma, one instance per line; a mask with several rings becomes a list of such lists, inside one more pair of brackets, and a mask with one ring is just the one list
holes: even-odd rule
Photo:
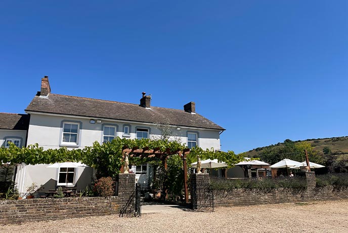
[[[142, 93], [137, 104], [82, 98], [51, 93], [48, 76], [41, 79], [41, 89], [25, 109], [27, 114], [1, 113], [0, 143], [17, 146], [38, 143], [44, 149], [83, 148], [93, 142], [104, 143], [115, 137], [158, 138], [158, 124], [163, 121], [173, 135], [189, 148], [220, 150], [220, 134], [225, 130], [196, 113], [195, 103], [182, 110], [151, 106], [151, 97]], [[33, 182], [45, 189], [57, 186], [84, 189], [93, 181], [90, 167], [48, 168], [48, 165], [17, 165], [14, 181], [20, 193]], [[132, 168], [139, 183], [147, 184], [152, 169], [144, 164]]]

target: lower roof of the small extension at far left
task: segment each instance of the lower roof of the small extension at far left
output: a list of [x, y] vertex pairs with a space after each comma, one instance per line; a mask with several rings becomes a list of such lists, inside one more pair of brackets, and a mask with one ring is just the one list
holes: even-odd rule
[[0, 112], [0, 129], [28, 130], [29, 115]]

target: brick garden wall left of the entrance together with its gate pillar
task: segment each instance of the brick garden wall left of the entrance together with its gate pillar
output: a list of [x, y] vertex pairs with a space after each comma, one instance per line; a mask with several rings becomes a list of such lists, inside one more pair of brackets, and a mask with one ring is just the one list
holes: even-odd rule
[[134, 213], [135, 174], [119, 174], [118, 196], [0, 200], [0, 223]]

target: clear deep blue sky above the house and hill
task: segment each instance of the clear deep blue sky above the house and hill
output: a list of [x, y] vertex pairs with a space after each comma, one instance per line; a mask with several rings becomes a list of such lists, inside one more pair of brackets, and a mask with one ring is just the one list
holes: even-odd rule
[[348, 2], [2, 1], [0, 112], [53, 93], [196, 111], [223, 150], [346, 136]]

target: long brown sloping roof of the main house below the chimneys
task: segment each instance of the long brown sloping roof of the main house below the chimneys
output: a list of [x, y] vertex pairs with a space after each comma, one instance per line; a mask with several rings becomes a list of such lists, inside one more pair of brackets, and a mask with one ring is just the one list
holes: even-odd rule
[[159, 123], [161, 119], [167, 119], [170, 125], [175, 126], [225, 130], [200, 114], [184, 110], [153, 106], [146, 109], [138, 104], [52, 93], [48, 97], [35, 96], [26, 110], [143, 123]]

